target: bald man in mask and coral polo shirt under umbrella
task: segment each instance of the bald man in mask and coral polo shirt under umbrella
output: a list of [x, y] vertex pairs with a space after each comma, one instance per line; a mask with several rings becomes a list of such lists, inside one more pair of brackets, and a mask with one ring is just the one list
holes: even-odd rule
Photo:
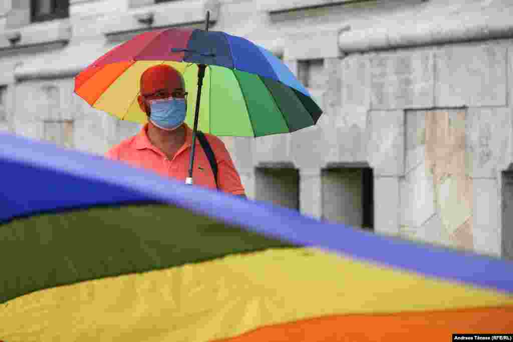
[[[184, 123], [187, 112], [184, 79], [176, 69], [157, 65], [144, 71], [140, 86], [137, 101], [148, 115], [148, 123], [139, 134], [113, 147], [106, 156], [185, 182], [189, 170], [192, 129]], [[205, 137], [218, 165], [219, 189], [245, 196], [241, 178], [224, 143], [211, 134], [205, 134]], [[194, 184], [216, 189], [212, 168], [198, 137], [195, 143]]]

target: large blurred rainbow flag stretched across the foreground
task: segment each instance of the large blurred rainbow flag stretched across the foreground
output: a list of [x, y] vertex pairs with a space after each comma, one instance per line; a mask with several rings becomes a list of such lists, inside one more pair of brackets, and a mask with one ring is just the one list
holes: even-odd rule
[[0, 134], [0, 340], [419, 341], [508, 333], [509, 261]]

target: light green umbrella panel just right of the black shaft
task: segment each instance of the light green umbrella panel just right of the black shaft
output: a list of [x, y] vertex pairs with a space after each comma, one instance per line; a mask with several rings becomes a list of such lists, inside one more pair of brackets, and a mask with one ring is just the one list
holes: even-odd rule
[[212, 66], [210, 70], [210, 133], [254, 136], [248, 106], [233, 70], [218, 66]]

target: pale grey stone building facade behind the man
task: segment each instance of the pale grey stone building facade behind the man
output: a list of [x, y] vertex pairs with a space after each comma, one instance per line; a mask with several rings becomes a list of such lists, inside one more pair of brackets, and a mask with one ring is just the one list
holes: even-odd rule
[[250, 198], [513, 258], [510, 1], [69, 0], [45, 17], [46, 3], [0, 4], [0, 129], [103, 154], [140, 127], [90, 108], [73, 77], [210, 10], [211, 30], [280, 56], [325, 112], [292, 134], [223, 138]]

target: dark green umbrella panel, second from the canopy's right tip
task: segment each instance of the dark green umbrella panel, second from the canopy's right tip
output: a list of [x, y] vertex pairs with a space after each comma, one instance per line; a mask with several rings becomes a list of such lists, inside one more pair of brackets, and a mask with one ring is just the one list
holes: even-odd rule
[[310, 113], [292, 89], [269, 78], [261, 79], [283, 113], [290, 132], [314, 125]]

